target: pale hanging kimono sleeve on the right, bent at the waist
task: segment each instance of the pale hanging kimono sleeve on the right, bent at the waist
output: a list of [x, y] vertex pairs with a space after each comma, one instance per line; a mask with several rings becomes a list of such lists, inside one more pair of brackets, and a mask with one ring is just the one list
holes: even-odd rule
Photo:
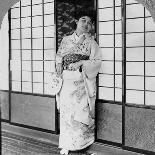
[[101, 51], [95, 40], [91, 41], [90, 52], [90, 58], [84, 62], [83, 66], [86, 77], [93, 79], [97, 76], [101, 67]]

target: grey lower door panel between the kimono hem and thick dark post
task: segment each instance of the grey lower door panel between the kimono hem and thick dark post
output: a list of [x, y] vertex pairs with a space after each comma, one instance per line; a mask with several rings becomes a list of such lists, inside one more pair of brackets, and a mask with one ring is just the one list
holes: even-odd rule
[[97, 139], [122, 143], [122, 106], [97, 103]]

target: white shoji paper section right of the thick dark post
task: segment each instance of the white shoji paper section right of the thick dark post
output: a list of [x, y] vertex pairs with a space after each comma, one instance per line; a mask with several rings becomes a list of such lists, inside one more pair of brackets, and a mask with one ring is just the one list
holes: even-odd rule
[[141, 4], [126, 2], [127, 103], [155, 105], [155, 24]]

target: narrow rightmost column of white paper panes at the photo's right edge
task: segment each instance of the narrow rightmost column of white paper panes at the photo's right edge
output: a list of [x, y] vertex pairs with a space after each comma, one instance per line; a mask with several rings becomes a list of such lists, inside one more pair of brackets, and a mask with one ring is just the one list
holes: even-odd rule
[[145, 105], [155, 106], [155, 23], [145, 10]]

